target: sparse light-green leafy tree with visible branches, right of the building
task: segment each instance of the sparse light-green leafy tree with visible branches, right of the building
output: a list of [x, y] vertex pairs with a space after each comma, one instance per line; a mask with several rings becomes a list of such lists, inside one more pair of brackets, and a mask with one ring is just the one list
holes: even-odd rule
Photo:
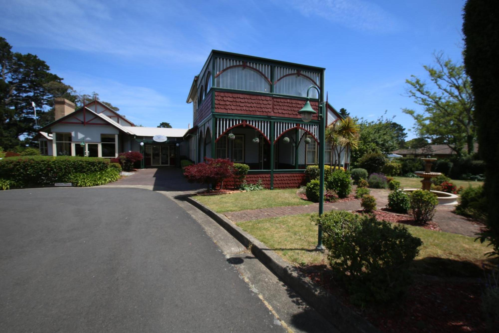
[[442, 52], [435, 53], [435, 64], [423, 66], [430, 82], [415, 75], [407, 79], [407, 94], [423, 112], [405, 108], [415, 120], [415, 129], [420, 137], [432, 142], [449, 145], [458, 155], [462, 154], [465, 143], [468, 153], [473, 153], [476, 139], [475, 101], [463, 64], [444, 58]]

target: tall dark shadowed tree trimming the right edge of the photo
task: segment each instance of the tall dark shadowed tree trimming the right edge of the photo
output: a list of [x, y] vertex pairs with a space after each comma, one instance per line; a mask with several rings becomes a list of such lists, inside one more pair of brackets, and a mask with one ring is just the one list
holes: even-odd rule
[[499, 6], [497, 1], [468, 0], [464, 7], [465, 66], [475, 95], [479, 153], [486, 162], [489, 201], [488, 240], [499, 254]]

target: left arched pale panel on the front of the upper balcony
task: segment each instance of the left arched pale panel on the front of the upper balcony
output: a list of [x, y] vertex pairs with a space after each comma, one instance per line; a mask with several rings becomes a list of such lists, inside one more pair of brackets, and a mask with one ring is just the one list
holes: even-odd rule
[[221, 88], [270, 92], [270, 83], [250, 67], [232, 67], [215, 77], [215, 85]]

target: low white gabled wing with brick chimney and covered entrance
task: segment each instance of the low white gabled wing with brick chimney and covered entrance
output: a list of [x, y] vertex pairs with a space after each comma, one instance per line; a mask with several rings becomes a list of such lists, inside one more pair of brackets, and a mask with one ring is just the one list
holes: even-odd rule
[[113, 158], [120, 152], [141, 151], [145, 166], [178, 166], [180, 156], [188, 154], [182, 138], [186, 132], [187, 128], [136, 126], [98, 100], [75, 109], [71, 101], [55, 98], [55, 121], [41, 128], [36, 138], [43, 155]]

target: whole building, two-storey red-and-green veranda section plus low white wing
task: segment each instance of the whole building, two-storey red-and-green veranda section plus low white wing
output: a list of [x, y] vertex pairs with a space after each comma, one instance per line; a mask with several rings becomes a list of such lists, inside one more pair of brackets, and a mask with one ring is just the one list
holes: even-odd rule
[[[303, 122], [306, 101], [317, 110], [324, 97], [325, 68], [213, 50], [187, 97], [193, 105], [190, 129], [135, 126], [98, 100], [75, 109], [55, 100], [55, 121], [37, 135], [42, 154], [115, 157], [141, 151], [142, 166], [179, 166], [180, 158], [229, 158], [250, 165], [248, 182], [297, 187], [304, 168], [318, 163], [319, 119]], [[327, 103], [326, 125], [339, 119]], [[166, 136], [166, 140], [165, 139]], [[325, 163], [336, 163], [329, 144]], [[348, 166], [348, 156], [340, 156]]]

